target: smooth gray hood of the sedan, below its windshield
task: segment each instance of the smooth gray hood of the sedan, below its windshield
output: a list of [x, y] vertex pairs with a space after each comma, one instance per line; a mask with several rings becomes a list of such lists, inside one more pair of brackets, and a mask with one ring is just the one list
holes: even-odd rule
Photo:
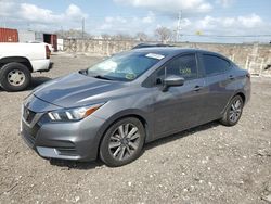
[[129, 82], [96, 79], [79, 73], [56, 78], [38, 87], [34, 95], [54, 105], [75, 107], [106, 102]]

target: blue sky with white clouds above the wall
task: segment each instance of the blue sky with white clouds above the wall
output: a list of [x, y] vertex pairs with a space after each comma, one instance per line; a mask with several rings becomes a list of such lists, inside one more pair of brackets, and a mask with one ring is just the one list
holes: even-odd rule
[[[271, 40], [271, 0], [0, 0], [0, 27], [91, 35], [177, 30], [181, 41]], [[180, 16], [180, 21], [178, 17]]]

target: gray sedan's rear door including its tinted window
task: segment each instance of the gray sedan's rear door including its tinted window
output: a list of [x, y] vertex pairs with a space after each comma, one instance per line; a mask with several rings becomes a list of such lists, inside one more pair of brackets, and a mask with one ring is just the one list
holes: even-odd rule
[[208, 87], [202, 119], [204, 122], [218, 119], [233, 93], [230, 88], [235, 80], [231, 74], [232, 64], [227, 59], [211, 53], [201, 53], [199, 62], [204, 67], [205, 81]]

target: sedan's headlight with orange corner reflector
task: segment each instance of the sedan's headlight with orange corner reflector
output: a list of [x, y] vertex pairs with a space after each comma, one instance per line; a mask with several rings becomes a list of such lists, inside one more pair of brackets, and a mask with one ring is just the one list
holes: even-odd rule
[[52, 122], [76, 122], [88, 117], [103, 104], [104, 103], [99, 103], [90, 106], [52, 111], [48, 113], [48, 116]]

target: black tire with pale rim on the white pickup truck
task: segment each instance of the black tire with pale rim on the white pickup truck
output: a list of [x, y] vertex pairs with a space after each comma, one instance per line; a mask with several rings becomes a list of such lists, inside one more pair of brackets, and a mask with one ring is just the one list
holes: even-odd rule
[[0, 69], [0, 84], [7, 91], [22, 91], [31, 81], [30, 71], [21, 63], [11, 62]]

